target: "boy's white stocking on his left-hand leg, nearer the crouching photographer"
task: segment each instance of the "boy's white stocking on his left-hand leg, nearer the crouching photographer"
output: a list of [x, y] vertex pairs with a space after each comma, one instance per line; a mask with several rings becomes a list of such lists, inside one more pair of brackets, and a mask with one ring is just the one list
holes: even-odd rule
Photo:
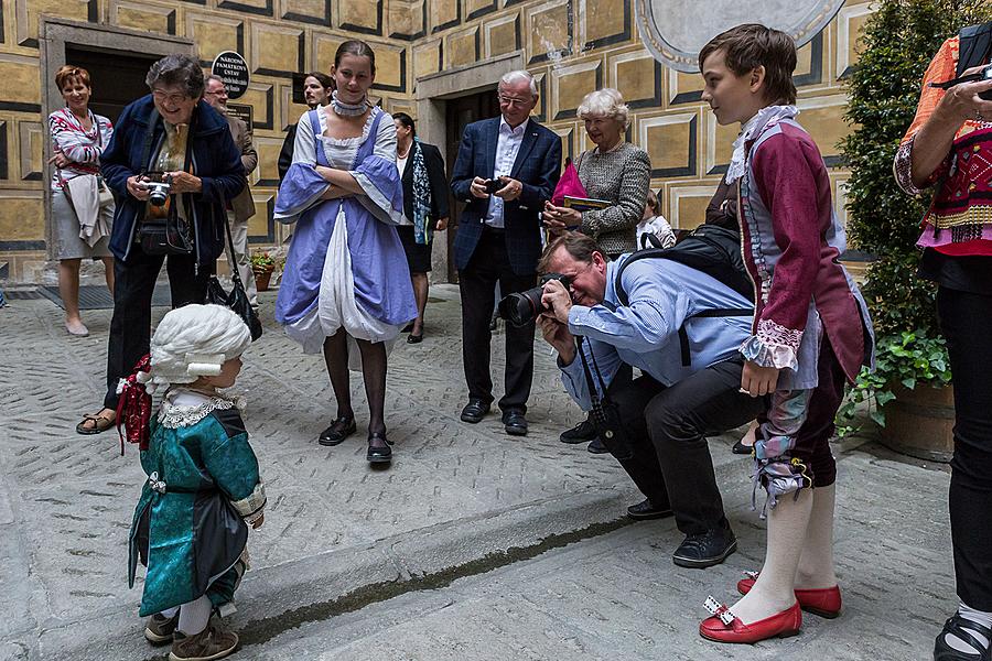
[[806, 541], [811, 489], [786, 494], [768, 513], [768, 546], [761, 575], [750, 593], [731, 606], [745, 625], [781, 613], [795, 604], [796, 570]]

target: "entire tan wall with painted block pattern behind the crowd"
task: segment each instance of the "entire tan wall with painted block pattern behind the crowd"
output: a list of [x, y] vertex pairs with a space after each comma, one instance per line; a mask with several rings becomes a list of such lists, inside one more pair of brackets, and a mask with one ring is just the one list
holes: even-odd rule
[[[756, 0], [755, 0], [756, 1]], [[337, 45], [369, 41], [377, 53], [374, 94], [388, 110], [416, 115], [418, 78], [520, 51], [540, 83], [536, 112], [562, 138], [564, 153], [587, 144], [575, 109], [582, 97], [616, 87], [634, 109], [628, 139], [648, 150], [653, 187], [666, 217], [689, 228], [726, 167], [734, 127], [718, 127], [700, 100], [701, 78], [664, 67], [640, 43], [633, 0], [0, 0], [0, 279], [40, 282], [45, 270], [46, 131], [40, 25], [43, 17], [185, 37], [204, 65], [220, 51], [244, 54], [259, 169], [250, 183], [259, 213], [250, 240], [280, 242], [271, 220], [276, 160], [284, 130], [305, 109], [292, 102], [291, 75], [326, 71]], [[702, 9], [700, 4], [700, 9]], [[856, 62], [870, 3], [849, 0], [800, 51], [800, 122], [829, 165], [844, 216], [848, 172], [837, 142], [844, 75]], [[701, 17], [704, 20], [704, 17]], [[143, 90], [136, 90], [138, 96]]]

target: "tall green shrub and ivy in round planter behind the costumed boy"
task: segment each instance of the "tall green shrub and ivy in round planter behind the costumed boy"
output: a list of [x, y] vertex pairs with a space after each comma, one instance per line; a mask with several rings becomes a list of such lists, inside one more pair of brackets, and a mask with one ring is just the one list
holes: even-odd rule
[[949, 460], [953, 400], [947, 348], [937, 327], [936, 285], [919, 278], [916, 239], [930, 203], [895, 183], [893, 159], [913, 122], [920, 84], [945, 39], [988, 21], [988, 0], [881, 0], [865, 21], [860, 59], [848, 79], [844, 116], [853, 127], [841, 142], [851, 169], [848, 231], [875, 257], [863, 288], [877, 335], [877, 366], [863, 370], [840, 411], [841, 433], [867, 402], [887, 445], [923, 458]]

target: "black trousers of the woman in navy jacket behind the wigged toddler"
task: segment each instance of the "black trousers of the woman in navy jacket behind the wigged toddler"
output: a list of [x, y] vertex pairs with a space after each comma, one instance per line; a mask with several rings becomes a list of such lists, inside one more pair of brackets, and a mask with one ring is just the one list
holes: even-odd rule
[[172, 307], [203, 303], [214, 264], [200, 266], [196, 273], [194, 256], [145, 254], [141, 246], [131, 246], [128, 261], [114, 260], [114, 317], [107, 342], [107, 394], [104, 407], [117, 409], [117, 382], [134, 369], [134, 364], [148, 354], [151, 340], [151, 297], [155, 279], [162, 270], [169, 273]]

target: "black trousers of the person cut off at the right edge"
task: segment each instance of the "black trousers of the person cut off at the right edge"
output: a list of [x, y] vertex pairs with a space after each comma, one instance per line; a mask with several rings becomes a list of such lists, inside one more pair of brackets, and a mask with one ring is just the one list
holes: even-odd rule
[[955, 376], [950, 521], [958, 596], [992, 611], [992, 296], [941, 286], [937, 314]]

